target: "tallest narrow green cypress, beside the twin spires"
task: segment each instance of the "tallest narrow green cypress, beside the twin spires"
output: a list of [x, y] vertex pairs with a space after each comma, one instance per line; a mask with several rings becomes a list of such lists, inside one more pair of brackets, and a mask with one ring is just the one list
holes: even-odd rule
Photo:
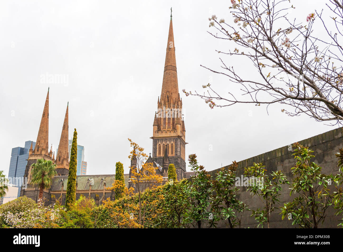
[[78, 156], [78, 132], [74, 129], [73, 142], [71, 144], [69, 175], [67, 183], [66, 207], [69, 209], [69, 204], [74, 205], [76, 200], [76, 165]]

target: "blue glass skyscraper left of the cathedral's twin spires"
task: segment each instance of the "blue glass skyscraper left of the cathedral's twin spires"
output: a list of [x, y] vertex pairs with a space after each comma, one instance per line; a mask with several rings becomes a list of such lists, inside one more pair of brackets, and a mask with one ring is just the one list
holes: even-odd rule
[[[21, 187], [21, 182], [24, 177], [25, 167], [27, 164], [28, 151], [31, 147], [32, 141], [26, 141], [25, 147], [12, 148], [10, 169], [8, 171], [8, 178], [11, 179], [11, 183]], [[36, 142], [32, 142], [32, 148], [34, 149]], [[18, 197], [20, 196], [20, 190], [18, 190]]]

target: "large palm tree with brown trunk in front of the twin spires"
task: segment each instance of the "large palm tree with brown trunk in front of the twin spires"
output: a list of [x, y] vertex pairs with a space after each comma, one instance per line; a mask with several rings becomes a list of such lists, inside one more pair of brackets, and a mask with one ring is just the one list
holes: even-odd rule
[[57, 175], [56, 165], [51, 160], [38, 159], [37, 163], [31, 165], [32, 179], [31, 183], [40, 185], [39, 199], [43, 198], [43, 190], [50, 187], [52, 178]]

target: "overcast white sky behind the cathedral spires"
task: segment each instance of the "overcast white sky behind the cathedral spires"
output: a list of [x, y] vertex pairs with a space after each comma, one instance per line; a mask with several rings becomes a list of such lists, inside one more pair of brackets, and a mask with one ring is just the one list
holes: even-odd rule
[[[305, 21], [324, 8], [321, 2], [291, 1], [292, 14]], [[36, 141], [48, 86], [49, 145], [56, 151], [69, 101], [69, 138], [76, 128], [87, 174], [113, 174], [117, 161], [128, 173], [128, 137], [151, 152], [171, 3], [179, 90], [199, 90], [211, 78], [217, 90], [235, 88], [200, 67], [218, 68], [215, 49], [232, 46], [207, 33], [212, 14], [232, 19], [229, 1], [1, 1], [0, 170], [8, 174], [13, 147]], [[224, 60], [257, 76], [244, 61]], [[65, 74], [68, 85], [41, 83], [46, 72]], [[207, 170], [333, 129], [306, 116], [288, 117], [281, 105], [270, 106], [269, 115], [255, 105], [211, 110], [197, 97], [180, 95], [186, 156], [196, 153]]]

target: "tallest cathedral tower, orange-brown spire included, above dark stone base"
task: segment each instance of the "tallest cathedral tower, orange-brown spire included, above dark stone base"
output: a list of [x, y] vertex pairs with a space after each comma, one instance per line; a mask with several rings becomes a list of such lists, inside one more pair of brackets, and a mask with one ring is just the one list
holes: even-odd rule
[[157, 99], [157, 111], [151, 137], [153, 139], [152, 159], [163, 166], [161, 171], [163, 177], [168, 176], [167, 165], [174, 164], [178, 180], [184, 178], [186, 172], [185, 135], [182, 100], [177, 83], [173, 22], [170, 15], [162, 91], [161, 97]]

